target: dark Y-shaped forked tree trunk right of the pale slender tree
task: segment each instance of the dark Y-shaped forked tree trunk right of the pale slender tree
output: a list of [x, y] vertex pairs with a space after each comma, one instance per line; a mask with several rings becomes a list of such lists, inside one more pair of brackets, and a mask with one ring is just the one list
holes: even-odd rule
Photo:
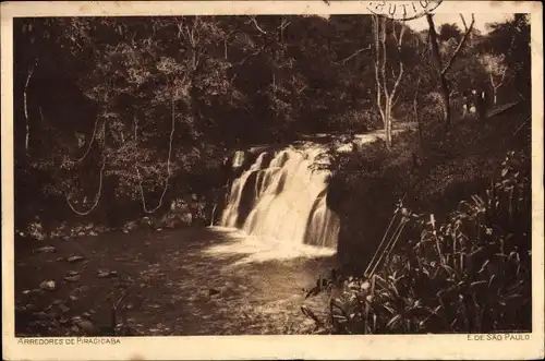
[[444, 62], [441, 60], [441, 55], [439, 51], [439, 39], [437, 36], [437, 32], [435, 31], [435, 24], [434, 24], [434, 19], [432, 14], [426, 14], [426, 20], [429, 25], [429, 41], [432, 44], [432, 53], [435, 59], [435, 67], [437, 71], [437, 75], [439, 77], [439, 86], [440, 86], [440, 95], [441, 95], [441, 100], [443, 100], [443, 119], [445, 122], [446, 127], [450, 125], [451, 122], [451, 111], [450, 111], [450, 89], [448, 85], [448, 72], [452, 64], [455, 63], [458, 55], [460, 53], [460, 50], [462, 49], [463, 45], [465, 44], [465, 40], [468, 39], [468, 36], [471, 34], [473, 29], [473, 25], [475, 23], [475, 15], [471, 15], [471, 23], [468, 26], [465, 23], [465, 20], [462, 14], [460, 14], [460, 17], [462, 19], [463, 26], [465, 28], [465, 33], [462, 36], [462, 39], [458, 43], [458, 46], [456, 47], [455, 51], [450, 57], [448, 57], [448, 60]]

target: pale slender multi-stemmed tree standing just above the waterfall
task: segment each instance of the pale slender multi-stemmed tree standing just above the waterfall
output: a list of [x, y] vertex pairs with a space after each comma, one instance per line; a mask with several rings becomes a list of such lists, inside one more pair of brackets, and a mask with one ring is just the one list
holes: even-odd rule
[[[373, 33], [375, 46], [375, 81], [376, 81], [376, 104], [380, 118], [384, 123], [384, 131], [386, 137], [386, 146], [391, 146], [391, 110], [397, 100], [397, 92], [401, 79], [403, 77], [404, 65], [401, 59], [401, 45], [403, 44], [403, 35], [405, 26], [401, 24], [399, 36], [397, 35], [396, 22], [391, 21], [391, 36], [395, 40], [397, 49], [396, 56], [398, 59], [398, 71], [396, 74], [395, 67], [389, 64], [388, 61], [388, 44], [387, 44], [387, 24], [388, 20], [384, 16], [373, 16]], [[389, 33], [389, 32], [388, 32]], [[390, 56], [391, 58], [391, 56]], [[389, 68], [389, 69], [388, 69]], [[387, 75], [387, 71], [391, 70], [391, 80]]]

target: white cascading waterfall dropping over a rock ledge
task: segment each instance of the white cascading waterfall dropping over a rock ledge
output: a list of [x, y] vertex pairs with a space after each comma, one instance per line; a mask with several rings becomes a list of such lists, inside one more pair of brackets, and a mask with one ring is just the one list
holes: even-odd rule
[[[322, 152], [317, 146], [262, 152], [233, 180], [220, 225], [262, 240], [335, 249], [339, 218], [326, 204], [329, 172], [310, 167]], [[242, 158], [238, 152], [233, 166]]]

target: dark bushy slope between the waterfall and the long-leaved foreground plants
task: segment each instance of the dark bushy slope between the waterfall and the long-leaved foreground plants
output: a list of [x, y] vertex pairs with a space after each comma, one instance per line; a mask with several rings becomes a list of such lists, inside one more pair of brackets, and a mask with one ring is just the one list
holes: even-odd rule
[[413, 129], [399, 134], [390, 151], [375, 142], [336, 155], [327, 201], [341, 217], [339, 256], [353, 272], [363, 270], [370, 261], [399, 198], [441, 218], [460, 198], [487, 185], [506, 152], [530, 149], [529, 109], [518, 108], [485, 123], [457, 120], [448, 133], [437, 112], [425, 110], [421, 116], [422, 139]]

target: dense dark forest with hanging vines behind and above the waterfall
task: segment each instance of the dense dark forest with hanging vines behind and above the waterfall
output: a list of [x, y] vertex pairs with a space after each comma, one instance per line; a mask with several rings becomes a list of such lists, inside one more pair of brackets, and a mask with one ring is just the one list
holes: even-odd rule
[[[387, 43], [399, 32], [389, 24]], [[16, 194], [33, 208], [17, 220], [40, 208], [47, 218], [53, 204], [109, 220], [136, 203], [164, 210], [221, 185], [218, 165], [233, 149], [382, 128], [373, 34], [370, 16], [16, 20]], [[472, 29], [457, 49], [463, 31], [439, 26], [441, 57], [459, 50], [451, 101], [477, 87], [496, 101], [528, 99], [528, 36], [517, 15], [486, 36]], [[392, 118], [414, 121], [420, 98], [420, 118], [433, 123], [426, 111], [440, 97], [427, 32], [407, 29], [401, 40], [385, 49], [387, 73], [404, 64]]]

